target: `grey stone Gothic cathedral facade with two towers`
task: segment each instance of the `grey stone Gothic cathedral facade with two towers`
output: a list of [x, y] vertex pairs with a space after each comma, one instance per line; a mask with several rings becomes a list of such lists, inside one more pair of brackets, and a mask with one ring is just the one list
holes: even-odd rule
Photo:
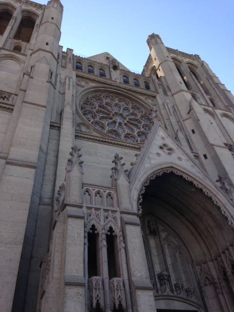
[[234, 97], [152, 34], [141, 75], [0, 0], [0, 311], [233, 312]]

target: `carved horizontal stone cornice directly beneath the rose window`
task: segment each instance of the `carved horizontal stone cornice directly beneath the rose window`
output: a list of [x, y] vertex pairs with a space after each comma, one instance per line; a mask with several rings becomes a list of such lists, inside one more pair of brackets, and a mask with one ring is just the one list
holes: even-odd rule
[[105, 144], [105, 145], [111, 145], [111, 146], [117, 146], [120, 148], [125, 148], [128, 150], [134, 150], [134, 151], [141, 151], [142, 145], [133, 144], [133, 143], [125, 143], [123, 141], [117, 140], [117, 139], [106, 139], [102, 137], [95, 137], [85, 134], [79, 134], [78, 132], [75, 133], [75, 138], [78, 140], [84, 140], [84, 141], [90, 141], [95, 142], [99, 144]]

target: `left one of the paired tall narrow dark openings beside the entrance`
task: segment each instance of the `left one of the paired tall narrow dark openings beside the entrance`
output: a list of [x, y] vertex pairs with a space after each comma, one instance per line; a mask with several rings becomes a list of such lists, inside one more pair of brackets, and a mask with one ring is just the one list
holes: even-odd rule
[[90, 228], [91, 232], [88, 232], [88, 275], [98, 276], [98, 255], [97, 255], [97, 236], [95, 232], [97, 229], [95, 225]]

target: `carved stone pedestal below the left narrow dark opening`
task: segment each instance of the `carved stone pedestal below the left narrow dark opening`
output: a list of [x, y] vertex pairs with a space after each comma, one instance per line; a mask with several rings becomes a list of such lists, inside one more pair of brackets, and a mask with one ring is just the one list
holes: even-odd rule
[[93, 276], [89, 278], [89, 310], [91, 310], [91, 307], [95, 309], [97, 303], [99, 303], [101, 310], [104, 311], [104, 294], [101, 277]]

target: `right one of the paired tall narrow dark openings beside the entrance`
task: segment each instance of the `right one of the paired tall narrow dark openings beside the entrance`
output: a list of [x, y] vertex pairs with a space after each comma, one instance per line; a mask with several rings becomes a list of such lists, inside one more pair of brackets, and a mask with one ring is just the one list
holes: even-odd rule
[[116, 239], [115, 238], [116, 238], [115, 231], [113, 230], [112, 227], [110, 227], [108, 230], [108, 234], [106, 234], [109, 279], [118, 277], [117, 254], [116, 254], [116, 248], [115, 248]]

